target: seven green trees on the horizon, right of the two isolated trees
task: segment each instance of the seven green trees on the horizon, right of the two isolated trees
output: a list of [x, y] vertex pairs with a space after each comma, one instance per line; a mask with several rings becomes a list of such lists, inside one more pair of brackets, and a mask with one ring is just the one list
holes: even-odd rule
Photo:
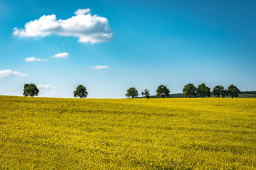
[[[233, 98], [233, 97], [238, 97], [240, 90], [237, 89], [237, 87], [234, 85], [230, 85], [227, 90], [224, 89], [223, 86], [217, 85], [216, 87], [214, 87], [212, 92], [213, 92], [214, 96], [217, 96], [219, 98], [220, 98], [220, 96], [221, 97], [230, 96]], [[185, 97], [190, 97], [190, 98], [196, 97], [196, 96], [203, 97], [203, 98], [211, 97], [211, 89], [209, 87], [207, 87], [205, 85], [205, 83], [198, 85], [197, 88], [192, 83], [189, 83], [188, 85], [185, 85], [185, 87], [183, 89], [183, 93], [184, 93]], [[149, 98], [150, 97], [149, 90], [148, 89], [143, 90], [143, 92], [141, 92], [141, 95]], [[133, 99], [134, 97], [138, 97], [139, 93], [135, 87], [130, 87], [127, 90], [127, 94], [125, 94], [125, 96], [132, 97], [132, 99]], [[156, 90], [156, 96], [163, 97], [163, 98], [169, 97], [170, 90], [164, 85], [159, 85], [159, 87]]]

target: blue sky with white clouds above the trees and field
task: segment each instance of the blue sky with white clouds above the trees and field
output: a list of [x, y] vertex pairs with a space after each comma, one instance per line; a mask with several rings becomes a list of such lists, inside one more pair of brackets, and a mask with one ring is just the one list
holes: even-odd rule
[[0, 0], [0, 95], [256, 90], [256, 1]]

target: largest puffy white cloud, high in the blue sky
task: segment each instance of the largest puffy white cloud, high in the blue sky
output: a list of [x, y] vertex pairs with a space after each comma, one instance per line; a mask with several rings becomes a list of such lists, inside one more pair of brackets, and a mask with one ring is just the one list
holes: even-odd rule
[[113, 33], [109, 27], [108, 19], [91, 15], [90, 9], [79, 9], [76, 16], [67, 20], [56, 20], [56, 15], [44, 15], [38, 20], [27, 22], [24, 29], [15, 27], [13, 35], [22, 37], [49, 36], [74, 36], [82, 43], [100, 43], [110, 41]]

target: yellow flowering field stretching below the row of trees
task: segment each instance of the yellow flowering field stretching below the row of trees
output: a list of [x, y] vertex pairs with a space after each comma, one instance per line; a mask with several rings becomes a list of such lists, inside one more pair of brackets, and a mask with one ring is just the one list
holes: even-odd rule
[[0, 96], [0, 168], [256, 169], [256, 99]]

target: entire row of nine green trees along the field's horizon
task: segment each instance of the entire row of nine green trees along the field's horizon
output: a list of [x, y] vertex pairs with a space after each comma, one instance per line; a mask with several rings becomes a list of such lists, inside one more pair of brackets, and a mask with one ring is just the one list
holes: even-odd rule
[[[212, 92], [214, 93], [214, 96], [217, 96], [219, 98], [220, 96], [221, 97], [230, 96], [233, 98], [233, 97], [238, 97], [238, 94], [240, 91], [234, 85], [230, 85], [227, 90], [224, 89], [223, 86], [217, 85], [216, 87], [214, 87]], [[31, 97], [38, 96], [38, 93], [39, 93], [39, 90], [35, 84], [30, 83], [30, 84], [24, 85], [24, 90], [23, 90], [24, 96], [31, 96]], [[200, 96], [203, 98], [211, 97], [211, 89], [207, 87], [205, 83], [198, 85], [197, 88], [192, 83], [189, 83], [188, 85], [185, 85], [183, 89], [183, 93], [185, 97], [195, 97], [195, 96]], [[148, 89], [143, 90], [143, 92], [141, 92], [141, 95], [147, 98], [150, 98]], [[74, 97], [83, 98], [87, 96], [88, 96], [88, 92], [86, 88], [83, 85], [77, 86], [76, 90], [74, 91]], [[127, 90], [127, 94], [125, 94], [125, 96], [132, 97], [133, 99], [134, 97], [138, 97], [139, 93], [135, 87], [130, 87]], [[156, 90], [156, 96], [163, 97], [163, 98], [170, 97], [170, 90], [165, 85], [159, 85], [159, 87], [157, 87], [157, 90]]]

